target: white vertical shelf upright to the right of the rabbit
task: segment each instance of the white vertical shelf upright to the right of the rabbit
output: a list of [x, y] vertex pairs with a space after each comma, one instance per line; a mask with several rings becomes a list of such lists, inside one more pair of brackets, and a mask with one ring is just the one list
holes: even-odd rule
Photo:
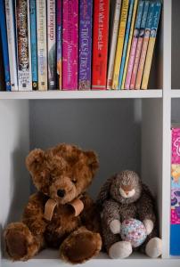
[[170, 236], [170, 157], [171, 157], [171, 8], [172, 1], [163, 4], [163, 107], [162, 107], [162, 237], [164, 258], [169, 257]]

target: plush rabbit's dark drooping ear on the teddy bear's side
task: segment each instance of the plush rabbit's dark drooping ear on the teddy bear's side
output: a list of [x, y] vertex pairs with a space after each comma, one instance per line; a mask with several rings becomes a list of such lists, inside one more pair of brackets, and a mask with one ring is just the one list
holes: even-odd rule
[[110, 197], [110, 185], [115, 180], [116, 174], [108, 178], [108, 180], [102, 185], [102, 188], [98, 194], [96, 203], [98, 206], [102, 206], [102, 203]]

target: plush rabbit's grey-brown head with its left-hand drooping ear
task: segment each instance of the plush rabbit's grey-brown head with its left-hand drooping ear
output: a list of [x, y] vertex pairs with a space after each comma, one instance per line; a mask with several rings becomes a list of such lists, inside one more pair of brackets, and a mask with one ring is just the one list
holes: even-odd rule
[[128, 204], [141, 197], [142, 182], [133, 171], [123, 171], [110, 177], [102, 186], [97, 202], [102, 204], [106, 199], [113, 198], [119, 203]]

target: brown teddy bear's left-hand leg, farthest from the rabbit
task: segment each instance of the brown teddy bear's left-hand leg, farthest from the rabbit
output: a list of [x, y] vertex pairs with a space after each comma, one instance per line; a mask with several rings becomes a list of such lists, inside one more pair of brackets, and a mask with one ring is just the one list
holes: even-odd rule
[[43, 236], [34, 237], [24, 223], [10, 223], [4, 239], [6, 251], [14, 261], [27, 261], [44, 246]]

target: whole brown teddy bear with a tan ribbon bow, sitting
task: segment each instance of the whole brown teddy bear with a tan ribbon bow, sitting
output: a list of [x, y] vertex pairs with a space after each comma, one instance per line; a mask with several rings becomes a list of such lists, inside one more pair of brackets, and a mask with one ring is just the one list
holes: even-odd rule
[[100, 220], [86, 194], [98, 169], [94, 151], [60, 144], [32, 150], [26, 165], [37, 187], [21, 223], [10, 223], [5, 246], [12, 260], [26, 261], [45, 247], [60, 247], [61, 258], [83, 263], [102, 247]]

